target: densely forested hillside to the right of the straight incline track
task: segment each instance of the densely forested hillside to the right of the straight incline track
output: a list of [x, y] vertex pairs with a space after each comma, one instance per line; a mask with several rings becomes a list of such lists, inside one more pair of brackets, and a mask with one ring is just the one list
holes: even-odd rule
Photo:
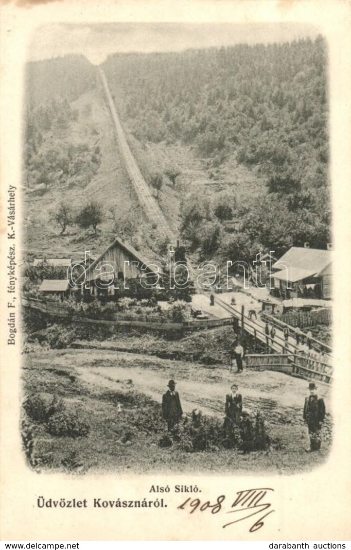
[[[191, 145], [211, 166], [235, 155], [264, 176], [265, 195], [240, 204], [224, 194], [224, 211], [206, 197], [183, 197], [183, 237], [203, 256], [330, 241], [326, 59], [319, 37], [115, 54], [103, 64], [136, 139]], [[221, 234], [221, 222], [232, 217], [242, 222], [240, 234]]]

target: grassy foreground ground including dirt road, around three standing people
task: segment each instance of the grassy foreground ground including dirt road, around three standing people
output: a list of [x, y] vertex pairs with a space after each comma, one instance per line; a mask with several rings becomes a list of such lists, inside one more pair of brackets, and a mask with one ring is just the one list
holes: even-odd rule
[[[240, 386], [249, 410], [266, 406], [266, 427], [273, 441], [270, 449], [242, 454], [235, 449], [189, 453], [174, 447], [160, 448], [159, 441], [166, 433], [161, 419], [161, 395], [166, 390], [165, 382], [174, 373], [179, 389], [183, 387], [185, 412], [203, 408], [207, 415], [212, 412], [213, 416], [222, 417], [223, 403], [213, 388], [221, 396], [233, 379], [223, 367], [209, 368], [111, 351], [102, 354], [101, 350], [47, 350], [26, 355], [24, 394], [41, 395], [48, 401], [53, 396], [62, 398], [67, 411], [90, 427], [86, 437], [59, 437], [49, 433], [45, 423], [35, 422], [24, 413], [30, 449], [27, 455], [31, 455], [32, 465], [37, 470], [73, 474], [107, 471], [294, 474], [326, 459], [330, 448], [330, 416], [321, 452], [305, 453], [308, 435], [295, 406], [293, 389], [299, 392], [306, 383], [269, 372], [244, 372]], [[192, 390], [193, 379], [198, 392]], [[205, 387], [212, 388], [206, 395], [201, 389]], [[270, 393], [265, 402], [260, 393], [263, 388]], [[287, 399], [285, 410], [278, 400], [282, 391], [287, 391], [291, 398]], [[197, 394], [201, 399], [196, 400]], [[122, 405], [121, 412], [118, 403]]]

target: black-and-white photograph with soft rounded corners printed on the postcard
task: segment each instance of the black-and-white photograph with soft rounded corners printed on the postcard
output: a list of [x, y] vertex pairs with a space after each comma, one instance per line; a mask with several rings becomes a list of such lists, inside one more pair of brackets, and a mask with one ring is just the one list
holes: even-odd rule
[[34, 34], [21, 265], [30, 467], [294, 474], [326, 460], [327, 70], [325, 38], [303, 24]]

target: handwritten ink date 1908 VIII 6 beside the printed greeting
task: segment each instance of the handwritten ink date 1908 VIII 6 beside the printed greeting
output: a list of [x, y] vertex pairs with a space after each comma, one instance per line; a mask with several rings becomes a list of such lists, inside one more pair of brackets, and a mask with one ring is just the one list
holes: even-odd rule
[[[229, 525], [234, 525], [239, 521], [251, 518], [254, 515], [260, 514], [259, 518], [256, 519], [253, 525], [251, 525], [249, 532], [253, 533], [261, 529], [264, 526], [264, 519], [272, 514], [275, 510], [267, 511], [271, 508], [270, 502], [262, 502], [265, 499], [265, 496], [268, 491], [274, 491], [269, 487], [261, 487], [256, 489], [244, 489], [243, 491], [238, 491], [237, 496], [234, 498], [231, 508], [228, 510], [225, 509], [224, 502], [228, 502], [226, 495], [221, 494], [220, 497], [217, 497], [216, 501], [211, 504], [210, 500], [201, 503], [199, 498], [191, 499], [187, 498], [183, 504], [178, 506], [179, 510], [186, 510], [190, 508], [189, 514], [193, 514], [195, 510], [203, 512], [205, 510], [210, 510], [211, 514], [218, 514], [218, 512], [224, 511], [226, 514], [235, 514], [233, 516], [233, 521], [229, 521], [224, 524], [222, 527], [229, 527]], [[264, 513], [264, 515], [261, 515]]]

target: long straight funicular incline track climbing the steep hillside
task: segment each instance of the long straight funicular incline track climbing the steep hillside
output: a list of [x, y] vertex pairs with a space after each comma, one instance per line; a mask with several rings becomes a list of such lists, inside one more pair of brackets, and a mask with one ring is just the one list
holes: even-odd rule
[[105, 92], [107, 105], [109, 107], [109, 111], [111, 112], [114, 128], [116, 129], [118, 146], [123, 158], [124, 166], [127, 169], [130, 182], [134, 187], [136, 195], [138, 196], [140, 205], [143, 208], [146, 217], [151, 222], [157, 224], [158, 232], [163, 237], [169, 237], [174, 243], [176, 240], [175, 234], [169, 227], [166, 219], [163, 216], [163, 213], [161, 212], [160, 207], [152, 196], [149, 185], [147, 185], [147, 183], [145, 182], [145, 179], [140, 172], [138, 164], [136, 163], [134, 155], [130, 150], [127, 139], [125, 138], [122, 124], [120, 123], [111, 92], [109, 91], [106, 75], [100, 67], [98, 67], [98, 73], [103, 86], [103, 91]]

